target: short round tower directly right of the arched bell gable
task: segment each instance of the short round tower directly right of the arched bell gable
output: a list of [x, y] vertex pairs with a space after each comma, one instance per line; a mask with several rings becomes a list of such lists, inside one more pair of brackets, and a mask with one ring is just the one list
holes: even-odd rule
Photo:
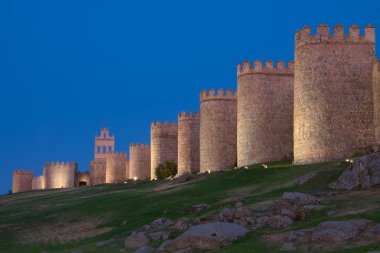
[[113, 152], [107, 154], [106, 183], [114, 184], [124, 182], [129, 178], [127, 153]]

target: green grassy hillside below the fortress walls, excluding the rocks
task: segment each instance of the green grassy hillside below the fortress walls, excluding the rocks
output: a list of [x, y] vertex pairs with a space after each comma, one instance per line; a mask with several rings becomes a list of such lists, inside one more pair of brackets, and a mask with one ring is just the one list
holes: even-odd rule
[[[176, 220], [212, 217], [237, 201], [253, 208], [265, 208], [284, 191], [312, 195], [328, 192], [327, 185], [337, 179], [346, 164], [331, 162], [307, 166], [271, 163], [268, 168], [251, 166], [200, 176], [177, 184], [163, 180], [128, 182], [122, 185], [99, 185], [63, 190], [47, 190], [0, 196], [0, 252], [121, 252], [126, 235], [156, 218]], [[310, 172], [316, 176], [304, 185], [294, 180]], [[380, 222], [379, 189], [327, 195], [322, 200], [327, 210], [313, 213], [307, 222], [296, 222], [281, 231], [314, 227], [325, 220], [327, 211], [336, 211], [334, 220], [367, 218]], [[210, 208], [191, 211], [195, 204]], [[263, 236], [278, 232], [263, 228], [250, 232], [233, 245], [217, 252], [280, 252], [275, 243]], [[175, 236], [172, 234], [172, 236]], [[113, 238], [111, 245], [97, 247], [98, 242]], [[158, 247], [157, 242], [155, 247]], [[337, 252], [367, 252], [380, 246], [356, 245], [354, 242]], [[134, 251], [124, 251], [134, 252]], [[334, 251], [335, 252], [335, 251]]]

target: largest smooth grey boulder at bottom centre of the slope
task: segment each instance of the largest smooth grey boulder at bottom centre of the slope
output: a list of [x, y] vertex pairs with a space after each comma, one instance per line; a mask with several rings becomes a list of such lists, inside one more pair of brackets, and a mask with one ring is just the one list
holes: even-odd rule
[[[161, 245], [161, 252], [181, 252], [195, 248], [213, 250], [230, 244], [244, 236], [249, 230], [233, 223], [213, 222], [191, 227], [176, 239]], [[186, 252], [185, 251], [185, 252]]]

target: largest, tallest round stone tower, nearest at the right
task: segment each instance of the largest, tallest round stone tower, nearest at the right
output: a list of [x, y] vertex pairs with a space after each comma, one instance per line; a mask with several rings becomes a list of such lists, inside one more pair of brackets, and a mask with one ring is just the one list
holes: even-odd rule
[[295, 35], [294, 163], [339, 160], [374, 144], [375, 30], [319, 25]]

